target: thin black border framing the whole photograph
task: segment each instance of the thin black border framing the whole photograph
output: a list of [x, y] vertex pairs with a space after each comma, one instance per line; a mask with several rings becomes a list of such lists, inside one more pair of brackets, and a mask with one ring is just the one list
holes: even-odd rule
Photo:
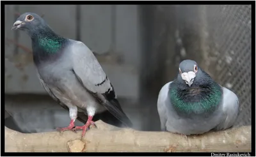
[[[62, 4], [251, 4], [252, 5], [252, 95], [255, 95], [255, 1], [61, 1]], [[1, 1], [1, 71], [4, 71], [4, 5], [5, 4], [59, 4], [60, 1]], [[1, 73], [1, 75], [2, 75]], [[4, 73], [3, 73], [4, 75]], [[2, 76], [3, 76], [2, 75]], [[4, 76], [1, 79], [4, 87]], [[254, 93], [254, 94], [253, 94]], [[4, 89], [1, 89], [1, 115], [4, 119]], [[252, 102], [255, 97], [252, 96]], [[255, 105], [252, 105], [252, 153], [255, 156]], [[254, 114], [253, 114], [254, 113]], [[68, 153], [4, 153], [4, 122], [1, 123], [1, 156], [75, 156]], [[84, 156], [85, 154], [76, 154]], [[86, 156], [211, 156], [211, 153], [86, 153]]]

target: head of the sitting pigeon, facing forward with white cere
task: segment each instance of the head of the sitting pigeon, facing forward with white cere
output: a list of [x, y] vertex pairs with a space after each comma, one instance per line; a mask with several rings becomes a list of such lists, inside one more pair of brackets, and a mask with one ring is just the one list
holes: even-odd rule
[[200, 71], [200, 68], [193, 60], [186, 59], [179, 64], [179, 78], [184, 80], [189, 87], [193, 84], [198, 71]]

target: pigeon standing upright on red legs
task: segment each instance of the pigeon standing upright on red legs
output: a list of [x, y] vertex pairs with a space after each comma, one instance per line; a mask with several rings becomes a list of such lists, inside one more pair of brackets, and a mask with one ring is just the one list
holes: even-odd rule
[[[36, 13], [23, 13], [12, 29], [25, 31], [32, 41], [33, 61], [45, 91], [69, 110], [70, 124], [58, 131], [97, 126], [93, 117], [116, 126], [132, 127], [114, 87], [93, 52], [81, 41], [60, 36]], [[78, 119], [84, 126], [75, 126]]]

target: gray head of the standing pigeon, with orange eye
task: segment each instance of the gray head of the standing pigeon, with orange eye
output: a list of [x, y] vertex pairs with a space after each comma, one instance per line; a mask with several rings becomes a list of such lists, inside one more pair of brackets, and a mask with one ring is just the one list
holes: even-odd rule
[[36, 13], [23, 13], [16, 20], [16, 22], [14, 22], [12, 29], [20, 29], [30, 33], [31, 31], [40, 26], [43, 26], [44, 24], [44, 19], [42, 19], [42, 17]]

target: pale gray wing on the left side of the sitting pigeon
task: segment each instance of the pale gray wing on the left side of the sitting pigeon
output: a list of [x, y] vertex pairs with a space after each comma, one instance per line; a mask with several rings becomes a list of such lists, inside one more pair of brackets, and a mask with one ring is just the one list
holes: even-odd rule
[[165, 84], [158, 95], [158, 99], [157, 99], [157, 110], [158, 110], [158, 114], [160, 117], [160, 122], [161, 122], [161, 130], [162, 131], [166, 131], [166, 121], [168, 119], [168, 115], [167, 115], [167, 108], [166, 108], [166, 103], [170, 102], [170, 101], [166, 101], [166, 99], [168, 98], [168, 91], [169, 91], [169, 86], [172, 82], [168, 82], [167, 84]]

